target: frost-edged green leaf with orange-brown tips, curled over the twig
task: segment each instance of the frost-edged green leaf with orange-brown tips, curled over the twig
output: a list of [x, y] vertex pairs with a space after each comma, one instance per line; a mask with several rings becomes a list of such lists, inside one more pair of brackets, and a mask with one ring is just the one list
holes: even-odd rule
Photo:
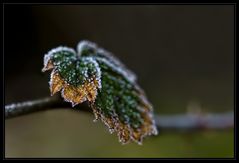
[[153, 110], [136, 76], [110, 52], [90, 41], [81, 41], [77, 52], [58, 47], [44, 57], [42, 71], [52, 70], [51, 95], [61, 91], [72, 106], [88, 101], [95, 120], [116, 132], [123, 144], [156, 135]]

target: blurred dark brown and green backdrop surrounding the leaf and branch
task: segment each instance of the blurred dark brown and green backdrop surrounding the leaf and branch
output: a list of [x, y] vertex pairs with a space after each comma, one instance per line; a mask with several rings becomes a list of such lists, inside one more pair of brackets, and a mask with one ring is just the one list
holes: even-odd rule
[[[82, 39], [138, 75], [157, 114], [233, 106], [232, 5], [4, 5], [5, 103], [49, 96], [44, 54]], [[233, 157], [233, 129], [160, 131], [121, 145], [93, 115], [54, 110], [5, 121], [6, 157]]]

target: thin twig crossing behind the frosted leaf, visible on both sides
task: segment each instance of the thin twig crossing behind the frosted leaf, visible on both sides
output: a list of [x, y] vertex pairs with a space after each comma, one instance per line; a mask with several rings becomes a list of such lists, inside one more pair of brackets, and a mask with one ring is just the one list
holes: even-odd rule
[[[5, 106], [5, 118], [13, 118], [38, 111], [69, 108], [59, 96], [39, 100], [26, 101]], [[90, 111], [86, 105], [79, 106], [82, 111]], [[232, 111], [225, 113], [192, 112], [176, 115], [156, 115], [156, 125], [159, 129], [192, 130], [192, 129], [228, 129], [234, 126]]]

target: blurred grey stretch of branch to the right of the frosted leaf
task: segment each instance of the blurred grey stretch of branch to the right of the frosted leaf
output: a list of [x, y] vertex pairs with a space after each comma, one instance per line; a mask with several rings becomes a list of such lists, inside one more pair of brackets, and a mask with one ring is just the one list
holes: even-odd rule
[[157, 115], [155, 120], [159, 128], [173, 130], [228, 129], [234, 126], [233, 111]]

